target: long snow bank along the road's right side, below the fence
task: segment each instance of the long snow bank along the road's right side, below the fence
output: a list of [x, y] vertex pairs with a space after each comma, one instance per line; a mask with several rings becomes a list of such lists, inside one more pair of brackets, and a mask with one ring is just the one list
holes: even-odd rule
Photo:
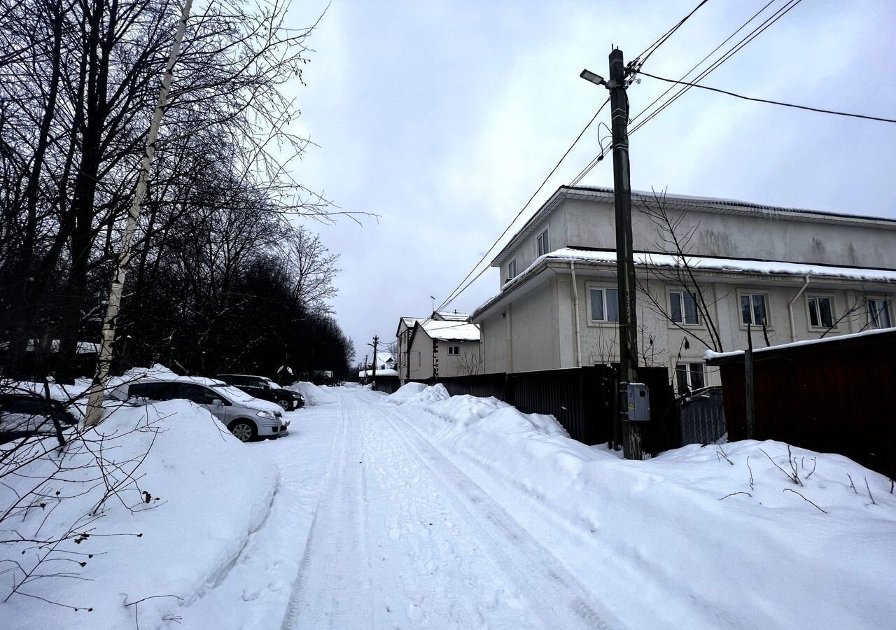
[[426, 395], [402, 417], [630, 627], [892, 627], [896, 496], [856, 462], [772, 441], [630, 462], [549, 416]]

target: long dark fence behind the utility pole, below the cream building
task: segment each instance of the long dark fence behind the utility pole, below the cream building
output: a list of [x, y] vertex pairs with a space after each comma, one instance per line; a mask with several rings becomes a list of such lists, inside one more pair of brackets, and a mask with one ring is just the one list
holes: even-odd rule
[[[675, 448], [680, 445], [680, 431], [668, 371], [665, 367], [642, 367], [638, 375], [650, 386], [650, 422], [644, 431], [644, 450], [659, 453]], [[494, 396], [523, 413], [552, 415], [573, 439], [585, 444], [615, 439], [618, 384], [613, 367], [453, 376], [437, 382], [444, 384], [452, 396]]]

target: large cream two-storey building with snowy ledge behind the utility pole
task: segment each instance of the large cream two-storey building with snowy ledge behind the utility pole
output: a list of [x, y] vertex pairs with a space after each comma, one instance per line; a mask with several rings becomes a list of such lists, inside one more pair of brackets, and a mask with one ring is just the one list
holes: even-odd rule
[[[612, 189], [563, 186], [495, 257], [501, 289], [471, 315], [484, 372], [618, 361]], [[896, 220], [633, 194], [641, 365], [677, 388], [718, 383], [705, 350], [892, 325]]]

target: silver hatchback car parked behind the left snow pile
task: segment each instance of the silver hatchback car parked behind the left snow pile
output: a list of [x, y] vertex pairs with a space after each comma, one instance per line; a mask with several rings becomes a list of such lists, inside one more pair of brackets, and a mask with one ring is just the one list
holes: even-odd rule
[[171, 380], [141, 379], [116, 386], [117, 400], [170, 401], [185, 399], [204, 407], [241, 442], [289, 433], [280, 405], [262, 401], [214, 378], [177, 376]]

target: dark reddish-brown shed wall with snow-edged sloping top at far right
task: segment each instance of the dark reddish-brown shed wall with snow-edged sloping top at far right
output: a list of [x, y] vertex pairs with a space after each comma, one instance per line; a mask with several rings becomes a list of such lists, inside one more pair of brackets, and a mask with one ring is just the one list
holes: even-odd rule
[[[747, 437], [743, 355], [719, 366], [728, 439]], [[754, 438], [896, 476], [896, 330], [754, 352]]]

